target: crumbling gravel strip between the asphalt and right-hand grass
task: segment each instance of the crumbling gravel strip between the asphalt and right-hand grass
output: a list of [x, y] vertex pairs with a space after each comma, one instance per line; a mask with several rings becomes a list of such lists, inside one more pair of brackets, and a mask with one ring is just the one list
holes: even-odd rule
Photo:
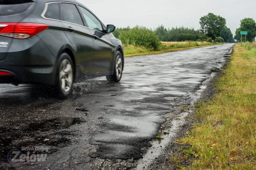
[[[233, 53], [233, 48], [231, 48], [230, 52], [228, 54]], [[221, 69], [225, 69], [225, 67], [229, 64], [230, 58], [226, 57], [224, 63], [220, 67]], [[221, 78], [223, 72], [213, 72], [209, 79], [202, 82], [203, 85], [206, 85], [207, 88], [202, 90], [200, 92], [200, 98], [196, 100], [196, 102], [202, 102], [208, 99], [214, 98], [214, 95], [218, 92], [216, 91], [216, 87], [214, 86], [214, 83], [218, 81], [219, 78]], [[177, 107], [173, 113], [175, 115], [181, 115], [182, 112], [180, 111], [181, 107]], [[199, 118], [189, 118], [189, 116], [193, 116], [195, 114], [195, 105], [193, 104], [192, 107], [189, 108], [189, 113], [185, 118], [185, 122], [180, 127], [180, 130], [176, 132], [175, 136], [172, 137], [172, 139], [169, 141], [167, 146], [162, 150], [162, 154], [158, 157], [156, 157], [149, 165], [145, 165], [143, 167], [137, 166], [133, 169], [145, 169], [145, 170], [155, 170], [155, 169], [177, 169], [177, 166], [175, 163], [170, 163], [169, 157], [173, 156], [177, 150], [177, 148], [184, 148], [185, 145], [181, 145], [179, 143], [176, 143], [176, 139], [185, 137], [187, 132], [189, 132], [192, 128], [194, 123], [202, 123], [202, 119]], [[161, 130], [164, 128], [161, 127]], [[183, 153], [182, 153], [183, 154]], [[136, 162], [137, 163], [137, 162]], [[182, 166], [190, 166], [189, 162], [182, 162]]]

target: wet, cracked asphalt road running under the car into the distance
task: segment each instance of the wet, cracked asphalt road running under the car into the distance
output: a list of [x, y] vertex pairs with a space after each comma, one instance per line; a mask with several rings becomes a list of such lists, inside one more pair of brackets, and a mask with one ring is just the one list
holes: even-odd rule
[[[76, 84], [67, 100], [56, 99], [43, 86], [0, 85], [0, 169], [149, 165], [158, 156], [148, 151], [162, 123], [170, 122], [166, 130], [175, 122], [178, 127], [182, 120], [177, 117], [184, 115], [172, 113], [198, 99], [202, 82], [211, 69], [221, 67], [232, 47], [225, 44], [125, 58], [120, 83], [108, 83], [104, 77], [87, 80]], [[8, 162], [10, 150], [29, 146], [47, 147], [48, 152], [40, 152], [47, 154], [45, 162], [15, 166]]]

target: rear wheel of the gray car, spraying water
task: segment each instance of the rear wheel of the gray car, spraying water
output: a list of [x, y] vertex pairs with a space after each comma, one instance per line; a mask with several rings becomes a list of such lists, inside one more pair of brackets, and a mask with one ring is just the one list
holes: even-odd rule
[[74, 83], [74, 65], [67, 53], [62, 53], [57, 62], [55, 89], [59, 98], [68, 98]]

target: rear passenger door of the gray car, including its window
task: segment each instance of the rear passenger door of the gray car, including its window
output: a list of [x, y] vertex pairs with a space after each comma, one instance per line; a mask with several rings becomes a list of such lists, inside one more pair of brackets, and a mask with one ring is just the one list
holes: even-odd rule
[[60, 19], [63, 21], [64, 31], [75, 50], [76, 65], [80, 65], [82, 72], [95, 72], [94, 37], [90, 29], [84, 26], [76, 4], [61, 2]]

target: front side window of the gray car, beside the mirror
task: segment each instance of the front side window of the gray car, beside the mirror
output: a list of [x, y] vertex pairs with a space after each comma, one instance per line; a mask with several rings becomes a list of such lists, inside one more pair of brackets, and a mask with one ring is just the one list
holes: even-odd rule
[[81, 10], [83, 17], [89, 28], [97, 31], [101, 31], [101, 32], [103, 31], [100, 21], [93, 14], [91, 14], [88, 10], [86, 10], [81, 6], [79, 6], [79, 9]]

